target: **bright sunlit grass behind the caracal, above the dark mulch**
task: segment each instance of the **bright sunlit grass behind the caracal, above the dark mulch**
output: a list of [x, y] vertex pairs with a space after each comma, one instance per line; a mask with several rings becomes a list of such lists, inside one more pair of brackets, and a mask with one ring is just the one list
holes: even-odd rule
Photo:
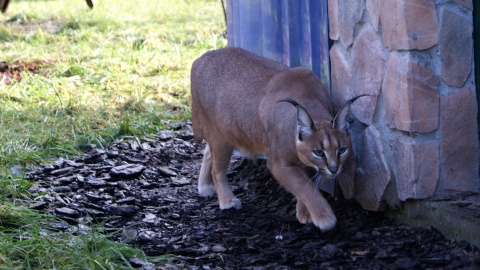
[[217, 1], [17, 1], [4, 20], [1, 60], [48, 62], [0, 86], [1, 163], [108, 142], [127, 118], [138, 136], [188, 118], [192, 61], [225, 46]]

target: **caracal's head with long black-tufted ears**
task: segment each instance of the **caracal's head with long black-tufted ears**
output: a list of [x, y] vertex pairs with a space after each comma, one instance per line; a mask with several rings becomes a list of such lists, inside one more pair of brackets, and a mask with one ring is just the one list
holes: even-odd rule
[[295, 144], [298, 158], [323, 177], [335, 178], [340, 175], [352, 154], [352, 144], [347, 134], [348, 115], [350, 105], [357, 98], [347, 101], [332, 122], [325, 121], [318, 125], [299, 103], [291, 99], [282, 100], [297, 108]]

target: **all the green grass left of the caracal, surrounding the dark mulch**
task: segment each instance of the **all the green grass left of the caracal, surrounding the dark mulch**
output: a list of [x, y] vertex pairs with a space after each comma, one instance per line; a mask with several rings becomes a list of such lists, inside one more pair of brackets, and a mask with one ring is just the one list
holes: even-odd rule
[[12, 1], [0, 61], [44, 64], [0, 84], [0, 269], [117, 269], [144, 256], [100, 229], [45, 236], [52, 217], [26, 208], [32, 183], [12, 167], [188, 119], [191, 63], [226, 46], [224, 35], [220, 1]]

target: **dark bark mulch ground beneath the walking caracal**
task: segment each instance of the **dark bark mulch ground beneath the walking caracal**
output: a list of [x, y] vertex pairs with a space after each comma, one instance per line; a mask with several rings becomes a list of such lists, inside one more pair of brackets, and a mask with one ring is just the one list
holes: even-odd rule
[[[229, 180], [242, 209], [198, 196], [202, 145], [188, 123], [156, 139], [124, 138], [28, 174], [30, 207], [59, 219], [45, 226], [78, 233], [104, 222], [113, 239], [168, 262], [144, 269], [477, 269], [478, 249], [435, 228], [394, 225], [380, 213], [329, 197], [338, 218], [321, 233], [295, 218], [295, 200], [265, 162], [233, 158]], [[207, 267], [207, 268], [205, 268]]]

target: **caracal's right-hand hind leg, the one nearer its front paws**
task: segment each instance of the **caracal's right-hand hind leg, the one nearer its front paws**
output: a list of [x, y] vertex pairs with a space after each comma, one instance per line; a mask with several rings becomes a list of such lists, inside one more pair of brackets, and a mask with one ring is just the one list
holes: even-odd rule
[[220, 209], [241, 208], [242, 203], [233, 195], [232, 188], [227, 181], [227, 169], [233, 148], [222, 143], [210, 144], [209, 147], [212, 155], [213, 183], [217, 191]]

